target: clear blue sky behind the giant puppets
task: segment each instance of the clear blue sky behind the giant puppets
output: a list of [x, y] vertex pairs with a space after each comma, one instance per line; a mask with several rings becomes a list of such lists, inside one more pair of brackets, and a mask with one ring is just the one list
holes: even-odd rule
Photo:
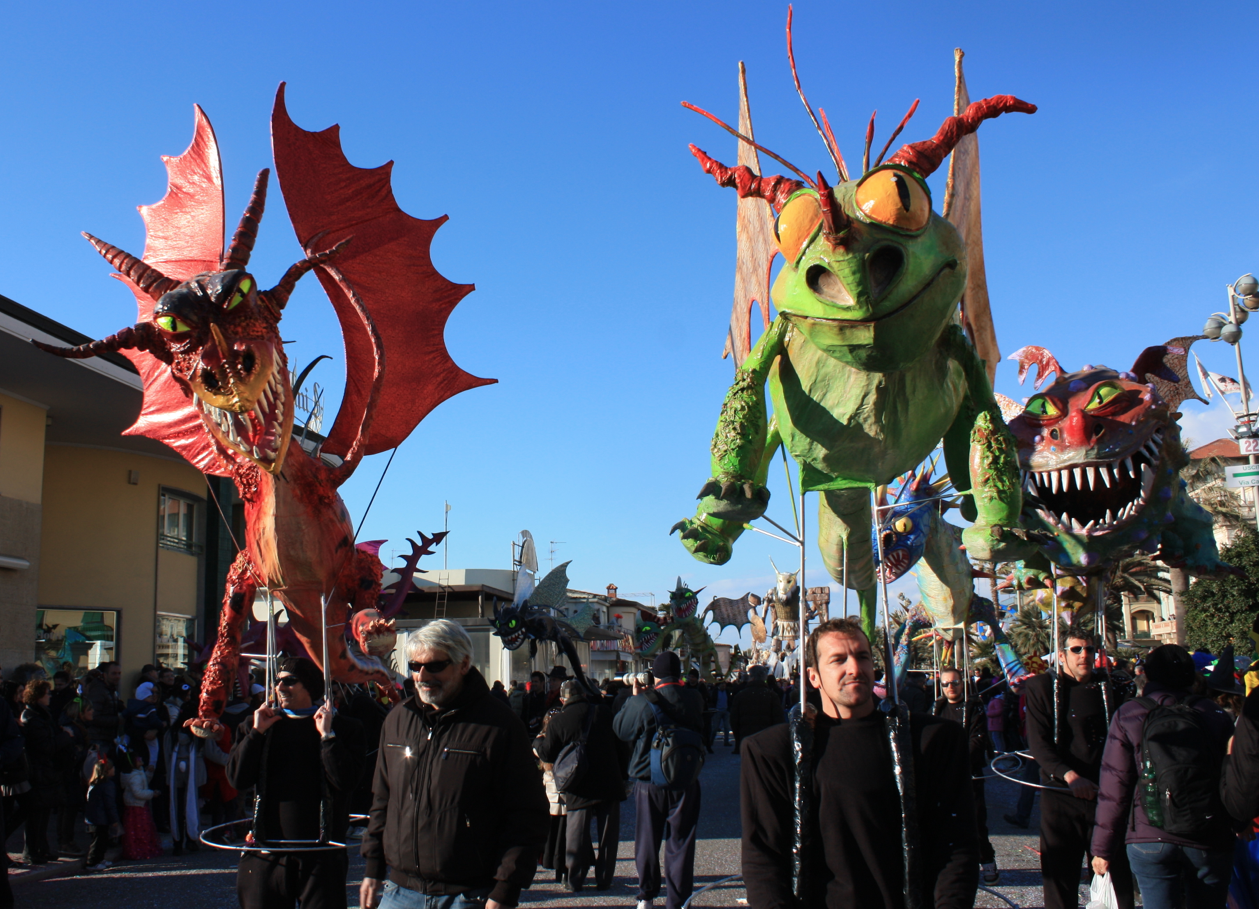
[[[792, 560], [783, 544], [747, 535], [713, 568], [667, 536], [708, 476], [731, 375], [720, 350], [734, 194], [686, 145], [731, 161], [734, 140], [679, 102], [734, 120], [744, 60], [758, 138], [807, 170], [826, 166], [787, 68], [786, 4], [356, 6], [10, 6], [0, 293], [93, 336], [130, 324], [130, 295], [78, 232], [140, 252], [135, 206], [165, 191], [159, 155], [185, 149], [194, 102], [218, 132], [234, 223], [271, 164], [268, 115], [287, 81], [298, 125], [340, 122], [351, 161], [397, 161], [405, 210], [449, 215], [434, 259], [477, 291], [447, 345], [468, 371], [499, 379], [421, 424], [363, 536], [400, 544], [439, 529], [449, 500], [452, 567], [507, 567], [528, 528], [544, 562], [560, 541], [575, 587], [660, 597], [681, 574], [728, 596], [764, 590], [768, 556]], [[1224, 286], [1259, 269], [1245, 39], [1259, 33], [1256, 10], [806, 1], [796, 54], [850, 162], [871, 110], [879, 145], [914, 98], [903, 141], [934, 132], [951, 112], [954, 47], [967, 52], [972, 97], [1039, 104], [980, 132], [998, 339], [1005, 353], [1047, 346], [1071, 369], [1123, 368], [1197, 331]], [[300, 257], [277, 193], [253, 271], [274, 281]], [[315, 374], [335, 395], [340, 339], [315, 281], [290, 303], [285, 337], [293, 361], [336, 358]], [[1199, 347], [1211, 369], [1235, 373], [1231, 350]], [[1003, 365], [997, 388], [1022, 398], [1013, 376]], [[1219, 410], [1186, 404], [1187, 434], [1221, 434]], [[384, 457], [342, 488], [356, 517]], [[771, 514], [787, 522], [776, 481]], [[810, 558], [816, 584], [812, 548]]]

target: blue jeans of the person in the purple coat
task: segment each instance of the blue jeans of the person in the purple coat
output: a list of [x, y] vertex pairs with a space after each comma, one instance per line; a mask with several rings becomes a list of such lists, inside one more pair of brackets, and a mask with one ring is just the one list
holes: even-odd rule
[[1146, 909], [1224, 909], [1229, 899], [1233, 850], [1129, 842], [1128, 862]]

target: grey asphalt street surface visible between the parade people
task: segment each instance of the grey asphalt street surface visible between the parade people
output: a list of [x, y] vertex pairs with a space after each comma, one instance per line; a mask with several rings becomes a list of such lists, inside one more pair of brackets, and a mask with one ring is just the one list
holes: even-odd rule
[[[730, 749], [716, 745], [716, 754], [709, 757], [701, 777], [704, 810], [700, 815], [699, 847], [695, 856], [696, 889], [739, 874], [739, 758]], [[993, 889], [1024, 909], [1044, 906], [1041, 896], [1040, 857], [1036, 854], [1037, 811], [1027, 831], [1011, 827], [1002, 815], [1013, 810], [1017, 791], [1012, 783], [988, 781], [988, 825], [992, 845], [997, 850], [1001, 883]], [[554, 875], [538, 869], [538, 876], [521, 900], [521, 905], [543, 905], [554, 909], [577, 906], [632, 906], [635, 903], [633, 865], [633, 799], [623, 803], [621, 816], [621, 851], [617, 878], [611, 890], [596, 891], [589, 886], [579, 894], [570, 894], [558, 885]], [[924, 831], [930, 836], [930, 831]], [[14, 857], [21, 851], [20, 835], [9, 842]], [[363, 878], [363, 860], [358, 850], [350, 852], [349, 903], [358, 905], [359, 881]], [[67, 909], [92, 905], [97, 909], [229, 909], [237, 905], [235, 894], [237, 854], [201, 849], [193, 855], [174, 857], [165, 855], [155, 861], [120, 861], [108, 871], [98, 874], [78, 872], [79, 862], [63, 862], [55, 872], [64, 876], [24, 881], [24, 867], [15, 866], [10, 874], [16, 903], [21, 909]], [[73, 870], [72, 870], [73, 869]], [[1084, 905], [1081, 888], [1080, 905]], [[662, 901], [662, 900], [661, 900]], [[695, 898], [699, 906], [745, 906], [744, 891], [731, 883], [715, 888]], [[980, 891], [976, 906], [1003, 906], [1007, 903]]]

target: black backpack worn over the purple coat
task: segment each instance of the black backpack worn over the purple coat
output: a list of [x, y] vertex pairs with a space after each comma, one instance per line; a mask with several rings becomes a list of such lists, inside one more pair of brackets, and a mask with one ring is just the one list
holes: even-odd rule
[[1138, 787], [1152, 826], [1201, 841], [1224, 811], [1222, 755], [1192, 700], [1197, 699], [1172, 705], [1152, 697], [1137, 700], [1149, 710], [1141, 728]]

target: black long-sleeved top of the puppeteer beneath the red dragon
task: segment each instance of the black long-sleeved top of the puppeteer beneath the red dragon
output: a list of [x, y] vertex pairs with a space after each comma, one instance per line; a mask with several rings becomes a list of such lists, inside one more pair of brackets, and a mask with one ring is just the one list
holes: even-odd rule
[[228, 783], [237, 789], [258, 787], [253, 835], [259, 842], [319, 838], [325, 796], [331, 812], [324, 832], [345, 842], [350, 794], [363, 776], [366, 742], [363, 724], [349, 716], [334, 716], [332, 731], [335, 737], [322, 742], [312, 716], [286, 716], [264, 733], [251, 725], [232, 748]]

